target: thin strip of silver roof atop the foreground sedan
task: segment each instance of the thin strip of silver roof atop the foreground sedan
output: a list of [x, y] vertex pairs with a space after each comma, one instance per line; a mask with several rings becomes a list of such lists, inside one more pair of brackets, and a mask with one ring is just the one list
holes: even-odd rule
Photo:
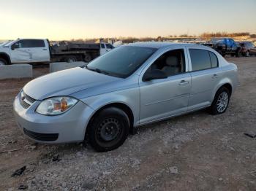
[[174, 42], [135, 42], [127, 44], [128, 46], [135, 47], [150, 47], [150, 48], [165, 48], [165, 47], [176, 47], [178, 45], [183, 45], [184, 47], [201, 47], [203, 49], [208, 49], [208, 47], [201, 44], [192, 44], [192, 43], [174, 43]]

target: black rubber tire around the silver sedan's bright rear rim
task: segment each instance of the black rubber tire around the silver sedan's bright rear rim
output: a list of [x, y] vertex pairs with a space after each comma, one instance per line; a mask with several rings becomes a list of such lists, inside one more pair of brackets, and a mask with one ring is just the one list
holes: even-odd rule
[[[220, 98], [221, 95], [223, 95], [222, 93], [227, 93], [227, 98], [228, 98], [227, 106], [225, 106], [225, 109], [223, 109], [223, 111], [222, 109], [218, 109], [218, 104], [219, 104], [218, 99]], [[229, 103], [230, 103], [230, 90], [228, 90], [227, 87], [220, 87], [214, 96], [214, 101], [212, 102], [209, 108], [209, 112], [211, 114], [223, 114], [224, 112], [226, 112]]]

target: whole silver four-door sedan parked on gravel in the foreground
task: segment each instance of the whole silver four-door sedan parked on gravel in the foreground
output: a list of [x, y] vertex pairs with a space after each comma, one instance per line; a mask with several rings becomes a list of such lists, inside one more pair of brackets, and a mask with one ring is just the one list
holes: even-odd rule
[[196, 44], [135, 43], [83, 68], [32, 80], [14, 101], [18, 126], [45, 143], [89, 140], [116, 149], [138, 126], [208, 108], [226, 111], [237, 67]]

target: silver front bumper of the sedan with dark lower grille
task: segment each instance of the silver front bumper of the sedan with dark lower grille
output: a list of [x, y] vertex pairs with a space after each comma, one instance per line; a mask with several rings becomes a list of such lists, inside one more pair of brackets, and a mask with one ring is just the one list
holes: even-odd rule
[[45, 116], [35, 111], [40, 101], [34, 101], [25, 109], [20, 104], [20, 94], [13, 103], [15, 120], [23, 133], [37, 142], [67, 143], [83, 141], [91, 114], [91, 107], [78, 101], [64, 114]]

